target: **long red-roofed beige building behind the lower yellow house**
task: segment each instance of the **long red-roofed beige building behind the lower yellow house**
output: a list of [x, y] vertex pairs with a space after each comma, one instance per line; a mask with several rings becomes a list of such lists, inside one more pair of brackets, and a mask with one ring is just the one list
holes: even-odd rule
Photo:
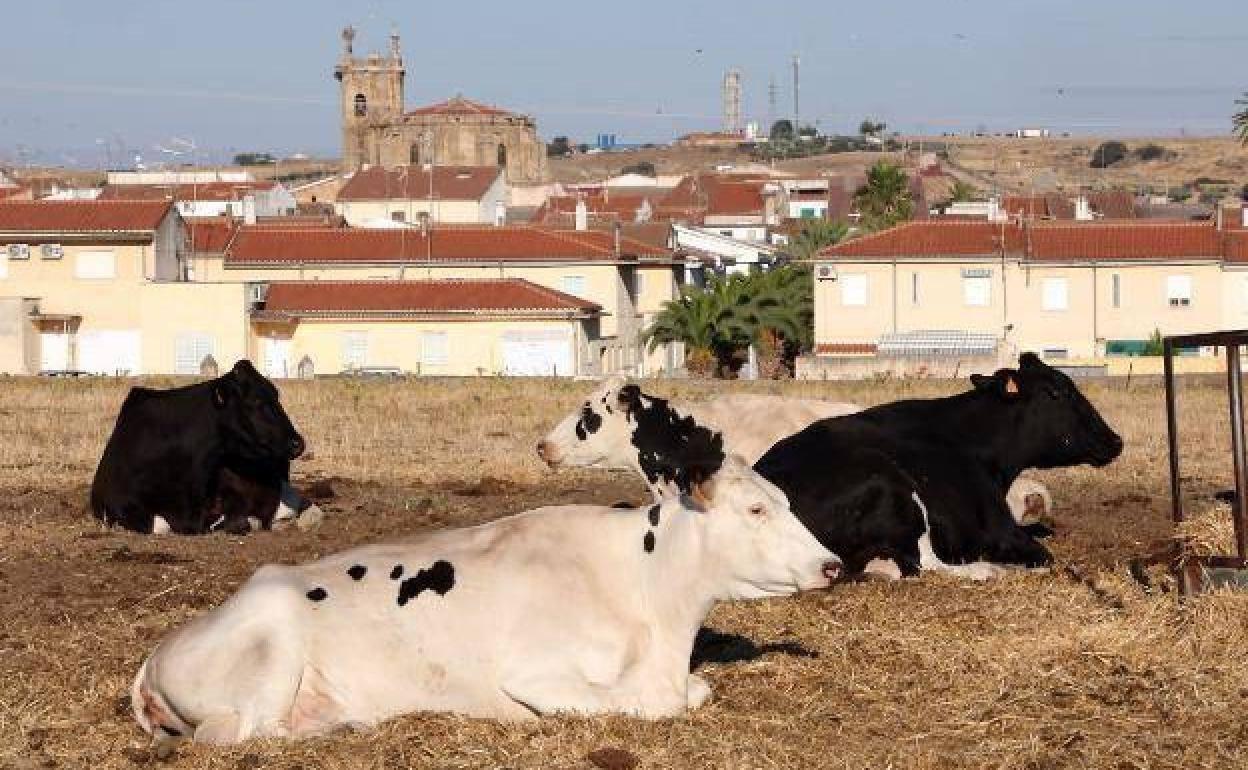
[[[291, 281], [366, 281], [373, 282], [371, 286], [434, 281], [451, 286], [518, 278], [600, 308], [584, 324], [588, 352], [577, 358], [578, 374], [646, 374], [683, 363], [680, 351], [663, 347], [648, 353], [639, 339], [663, 303], [678, 296], [681, 265], [668, 248], [604, 231], [245, 226], [228, 236], [218, 256], [197, 255], [193, 271], [197, 281], [246, 283], [256, 303], [267, 301], [271, 285]], [[555, 358], [562, 361], [559, 356]], [[288, 371], [291, 364], [288, 359]], [[494, 364], [483, 358], [472, 368], [493, 372]]]

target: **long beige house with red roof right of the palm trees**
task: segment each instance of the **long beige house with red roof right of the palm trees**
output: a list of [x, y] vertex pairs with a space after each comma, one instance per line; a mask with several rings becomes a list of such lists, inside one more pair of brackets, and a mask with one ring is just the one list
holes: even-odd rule
[[962, 339], [1087, 361], [1138, 352], [1154, 331], [1242, 327], [1244, 236], [1203, 222], [910, 222], [820, 255], [816, 352]]

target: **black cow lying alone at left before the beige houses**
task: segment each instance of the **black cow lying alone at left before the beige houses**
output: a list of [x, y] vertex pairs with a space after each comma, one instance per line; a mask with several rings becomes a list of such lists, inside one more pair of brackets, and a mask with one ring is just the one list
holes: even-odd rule
[[245, 533], [251, 519], [267, 529], [303, 448], [277, 388], [250, 361], [183, 388], [131, 388], [91, 483], [91, 513], [141, 533]]

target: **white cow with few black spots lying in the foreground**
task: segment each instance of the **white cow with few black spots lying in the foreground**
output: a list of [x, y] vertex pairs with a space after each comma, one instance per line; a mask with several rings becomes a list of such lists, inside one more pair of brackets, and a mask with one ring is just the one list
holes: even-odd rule
[[158, 744], [232, 744], [409, 711], [695, 708], [710, 689], [689, 656], [715, 602], [824, 588], [840, 570], [744, 461], [699, 468], [688, 494], [648, 508], [539, 508], [263, 567], [157, 646], [135, 718]]

